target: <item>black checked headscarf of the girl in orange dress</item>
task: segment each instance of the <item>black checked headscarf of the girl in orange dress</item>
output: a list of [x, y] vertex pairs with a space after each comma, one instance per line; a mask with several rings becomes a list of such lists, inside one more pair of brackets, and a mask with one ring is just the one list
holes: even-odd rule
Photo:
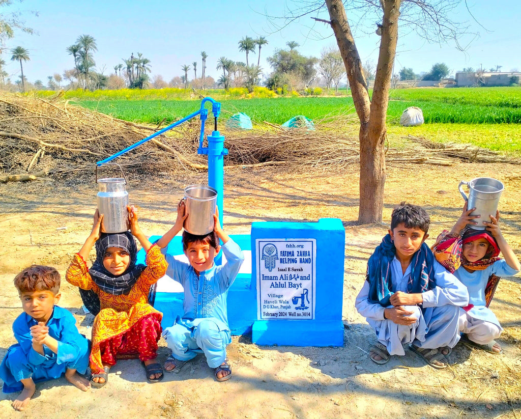
[[[120, 248], [126, 250], [130, 255], [130, 263], [125, 273], [114, 276], [103, 265], [103, 255], [108, 248]], [[146, 265], [137, 265], [138, 248], [130, 231], [123, 233], [102, 233], [96, 241], [96, 262], [89, 269], [95, 284], [103, 291], [113, 294], [128, 294]]]

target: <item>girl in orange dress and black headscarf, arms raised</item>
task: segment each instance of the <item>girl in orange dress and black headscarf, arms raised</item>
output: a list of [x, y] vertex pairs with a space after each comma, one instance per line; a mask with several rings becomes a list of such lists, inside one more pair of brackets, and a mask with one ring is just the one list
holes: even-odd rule
[[[142, 361], [149, 383], [163, 379], [156, 362], [161, 336], [162, 313], [148, 304], [151, 285], [165, 275], [167, 263], [157, 245], [152, 245], [138, 225], [134, 207], [127, 207], [130, 232], [101, 233], [103, 215], [94, 214], [94, 225], [67, 269], [66, 279], [82, 290], [91, 290], [100, 300], [101, 311], [92, 326], [91, 385], [103, 387], [116, 359]], [[146, 251], [146, 265], [137, 265], [135, 236]], [[96, 244], [96, 261], [89, 269], [85, 261]]]

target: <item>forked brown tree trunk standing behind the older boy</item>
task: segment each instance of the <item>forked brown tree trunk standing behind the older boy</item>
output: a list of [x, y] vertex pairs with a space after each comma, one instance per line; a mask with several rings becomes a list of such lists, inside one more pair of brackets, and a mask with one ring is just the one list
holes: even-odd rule
[[383, 8], [382, 35], [372, 101], [362, 72], [353, 34], [342, 0], [326, 0], [330, 24], [340, 48], [351, 87], [353, 103], [360, 120], [360, 206], [361, 224], [382, 220], [383, 187], [386, 180], [384, 143], [389, 85], [398, 40], [400, 0], [380, 0]]

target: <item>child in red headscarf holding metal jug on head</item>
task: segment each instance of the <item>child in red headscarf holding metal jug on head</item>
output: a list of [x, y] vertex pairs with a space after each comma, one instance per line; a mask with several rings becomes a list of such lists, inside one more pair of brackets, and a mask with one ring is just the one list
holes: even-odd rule
[[[449, 232], [444, 230], [433, 247], [437, 258], [467, 287], [469, 304], [460, 310], [461, 341], [467, 346], [486, 350], [492, 354], [503, 352], [494, 339], [503, 328], [488, 308], [485, 290], [491, 275], [512, 276], [521, 265], [506, 242], [498, 224], [499, 211], [491, 221], [484, 221], [485, 230], [472, 228], [477, 224], [476, 208], [463, 207], [461, 217]], [[498, 256], [503, 253], [504, 260]], [[492, 295], [488, 295], [488, 301]]]

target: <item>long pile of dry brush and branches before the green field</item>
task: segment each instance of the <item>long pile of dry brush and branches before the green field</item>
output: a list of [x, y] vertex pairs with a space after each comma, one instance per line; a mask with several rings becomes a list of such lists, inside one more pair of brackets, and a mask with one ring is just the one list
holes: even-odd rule
[[[92, 176], [95, 163], [148, 137], [159, 127], [138, 125], [71, 105], [58, 95], [43, 100], [0, 93], [0, 182], [35, 178]], [[207, 124], [211, 125], [211, 124]], [[316, 130], [285, 130], [269, 124], [251, 131], [225, 130], [228, 167], [283, 164], [342, 166], [359, 162], [358, 125], [353, 116], [315, 121]], [[207, 127], [212, 129], [212, 127]], [[115, 162], [142, 174], [205, 170], [196, 154], [200, 121], [194, 118], [118, 157]], [[413, 150], [387, 150], [388, 162], [450, 165], [510, 162], [469, 145], [440, 145], [412, 138]]]

